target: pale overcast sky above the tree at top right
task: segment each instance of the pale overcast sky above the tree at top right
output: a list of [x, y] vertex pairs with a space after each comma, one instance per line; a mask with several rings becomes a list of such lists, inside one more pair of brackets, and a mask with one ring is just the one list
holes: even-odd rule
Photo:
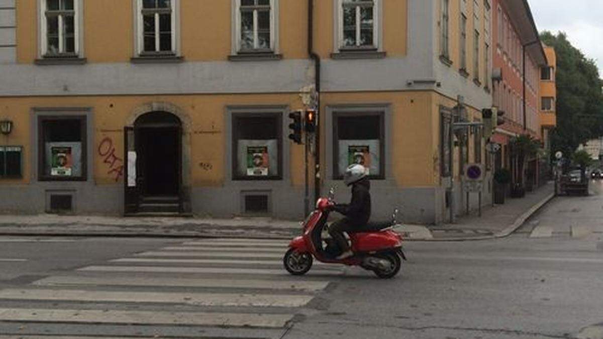
[[595, 59], [603, 77], [602, 0], [528, 0], [538, 31], [567, 33], [587, 58]]

